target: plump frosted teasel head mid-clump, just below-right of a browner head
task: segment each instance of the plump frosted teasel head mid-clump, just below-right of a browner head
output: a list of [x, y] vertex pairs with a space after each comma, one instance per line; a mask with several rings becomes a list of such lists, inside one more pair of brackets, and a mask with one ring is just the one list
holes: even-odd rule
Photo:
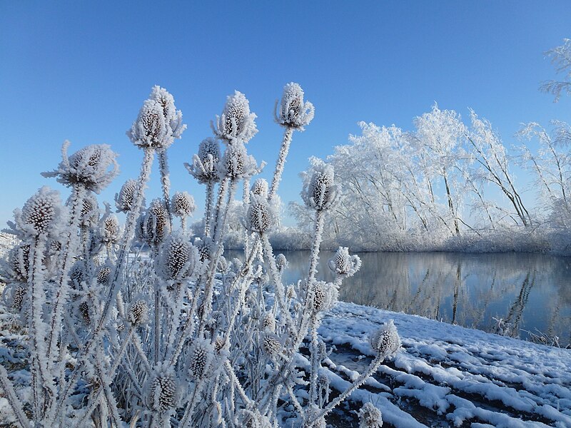
[[157, 272], [163, 280], [182, 282], [193, 274], [198, 261], [198, 250], [187, 235], [171, 233], [161, 245], [157, 259]]

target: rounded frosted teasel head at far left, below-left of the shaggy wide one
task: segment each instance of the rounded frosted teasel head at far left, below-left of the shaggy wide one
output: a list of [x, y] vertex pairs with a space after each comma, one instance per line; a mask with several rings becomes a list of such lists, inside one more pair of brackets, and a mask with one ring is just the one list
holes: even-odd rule
[[27, 235], [50, 235], [56, 233], [61, 211], [59, 193], [44, 186], [15, 211], [16, 224]]

